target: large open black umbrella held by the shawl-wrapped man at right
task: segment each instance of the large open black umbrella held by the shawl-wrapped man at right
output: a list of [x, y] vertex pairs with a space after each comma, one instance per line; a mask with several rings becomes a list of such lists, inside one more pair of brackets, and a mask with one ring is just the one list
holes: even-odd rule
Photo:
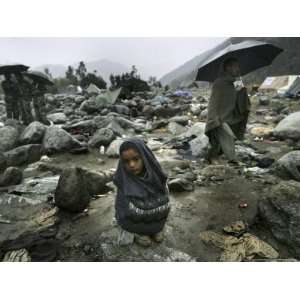
[[268, 66], [283, 49], [272, 44], [248, 40], [238, 44], [230, 44], [223, 49], [216, 48], [198, 66], [196, 81], [216, 80], [228, 58], [236, 58], [240, 64], [241, 75]]

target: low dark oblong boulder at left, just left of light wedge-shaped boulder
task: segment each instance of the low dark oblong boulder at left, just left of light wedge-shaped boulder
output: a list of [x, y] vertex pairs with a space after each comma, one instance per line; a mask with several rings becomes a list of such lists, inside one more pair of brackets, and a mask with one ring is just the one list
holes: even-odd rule
[[17, 147], [4, 153], [8, 166], [21, 166], [40, 160], [42, 145], [31, 144]]

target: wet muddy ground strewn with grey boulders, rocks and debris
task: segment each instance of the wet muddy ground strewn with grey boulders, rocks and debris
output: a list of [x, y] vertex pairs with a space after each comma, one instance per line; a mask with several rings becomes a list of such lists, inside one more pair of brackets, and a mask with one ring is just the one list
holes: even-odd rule
[[[47, 95], [50, 126], [5, 120], [0, 100], [0, 260], [296, 261], [300, 102], [255, 94], [241, 164], [211, 166], [209, 90], [108, 103]], [[143, 248], [114, 221], [118, 147], [143, 138], [169, 174], [162, 244]]]

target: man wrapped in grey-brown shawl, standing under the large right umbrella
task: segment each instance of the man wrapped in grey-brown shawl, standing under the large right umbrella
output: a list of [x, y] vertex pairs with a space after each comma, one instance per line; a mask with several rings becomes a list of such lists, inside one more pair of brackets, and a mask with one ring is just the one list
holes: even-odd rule
[[247, 89], [235, 85], [240, 77], [239, 62], [235, 58], [227, 59], [222, 71], [223, 75], [212, 86], [205, 128], [211, 144], [208, 159], [213, 164], [218, 163], [222, 153], [229, 162], [237, 163], [235, 140], [244, 138], [250, 111]]

